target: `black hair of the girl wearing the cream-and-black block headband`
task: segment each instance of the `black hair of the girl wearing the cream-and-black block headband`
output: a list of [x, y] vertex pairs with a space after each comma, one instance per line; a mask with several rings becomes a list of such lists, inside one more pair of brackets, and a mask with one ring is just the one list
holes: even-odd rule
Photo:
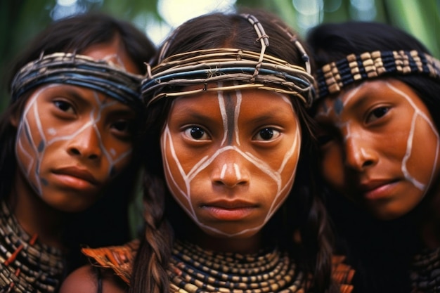
[[[318, 25], [307, 36], [317, 67], [350, 54], [372, 51], [428, 49], [407, 32], [379, 22], [342, 22]], [[410, 86], [427, 106], [440, 129], [440, 82], [422, 74], [389, 74]], [[313, 115], [313, 112], [312, 112]], [[410, 292], [410, 259], [422, 246], [419, 218], [422, 204], [394, 221], [373, 219], [366, 211], [328, 190], [327, 207], [339, 242], [356, 269], [355, 292]]]

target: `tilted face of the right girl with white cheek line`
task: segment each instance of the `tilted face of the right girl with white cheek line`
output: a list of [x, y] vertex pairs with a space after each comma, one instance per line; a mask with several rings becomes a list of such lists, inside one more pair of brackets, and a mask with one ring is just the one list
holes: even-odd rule
[[396, 79], [377, 79], [325, 98], [322, 171], [333, 188], [379, 219], [417, 206], [439, 173], [439, 134], [422, 100]]

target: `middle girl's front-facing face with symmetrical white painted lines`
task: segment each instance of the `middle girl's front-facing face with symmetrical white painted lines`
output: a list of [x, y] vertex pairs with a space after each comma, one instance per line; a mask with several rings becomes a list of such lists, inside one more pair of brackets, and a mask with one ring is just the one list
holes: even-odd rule
[[176, 98], [162, 133], [167, 184], [207, 235], [252, 237], [295, 178], [301, 132], [287, 96], [246, 89]]

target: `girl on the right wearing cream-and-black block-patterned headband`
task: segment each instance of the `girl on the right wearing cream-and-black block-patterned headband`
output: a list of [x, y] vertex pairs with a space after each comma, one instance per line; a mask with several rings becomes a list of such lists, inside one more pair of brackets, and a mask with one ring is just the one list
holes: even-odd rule
[[321, 25], [309, 44], [321, 67], [313, 115], [323, 178], [354, 202], [329, 199], [360, 263], [356, 291], [438, 291], [439, 60], [379, 23]]

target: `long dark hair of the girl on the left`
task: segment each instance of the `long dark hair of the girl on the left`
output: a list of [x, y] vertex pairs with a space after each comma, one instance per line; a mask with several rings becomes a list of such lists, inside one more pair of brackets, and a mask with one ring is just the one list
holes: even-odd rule
[[[103, 13], [86, 13], [64, 18], [53, 22], [46, 30], [34, 37], [11, 65], [8, 84], [20, 68], [37, 60], [41, 55], [56, 52], [82, 53], [95, 44], [105, 44], [115, 37], [119, 40], [136, 64], [138, 71], [145, 74], [145, 61], [153, 58], [154, 44], [134, 25], [117, 20]], [[9, 89], [11, 90], [11, 89]], [[30, 97], [24, 93], [15, 102], [11, 102], [0, 118], [0, 199], [4, 200], [11, 193], [13, 176], [17, 168], [15, 159], [15, 137], [17, 129], [11, 124], [11, 117], [18, 117]], [[141, 117], [139, 117], [141, 119]], [[79, 245], [103, 246], [116, 245], [127, 241], [129, 235], [128, 205], [136, 188], [140, 169], [140, 154], [135, 144], [134, 157], [129, 167], [110, 184], [105, 194], [84, 212], [69, 215], [67, 226], [63, 231], [65, 246], [72, 257], [68, 260], [69, 268], [79, 266], [83, 260], [79, 254]]]

